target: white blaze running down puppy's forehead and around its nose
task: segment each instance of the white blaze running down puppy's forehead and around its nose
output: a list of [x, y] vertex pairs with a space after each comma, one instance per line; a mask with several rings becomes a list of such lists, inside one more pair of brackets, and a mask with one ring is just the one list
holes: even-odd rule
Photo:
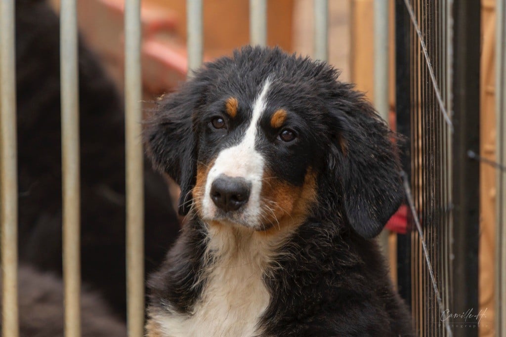
[[202, 201], [205, 216], [212, 217], [215, 213], [216, 206], [210, 199], [209, 192], [215, 179], [224, 174], [229, 177], [241, 177], [251, 183], [249, 200], [244, 206], [243, 218], [249, 218], [251, 225], [256, 225], [260, 215], [264, 158], [261, 153], [255, 150], [255, 138], [258, 134], [260, 117], [267, 106], [267, 93], [270, 85], [271, 81], [267, 78], [262, 86], [262, 91], [253, 103], [251, 121], [244, 133], [244, 138], [239, 144], [221, 151], [207, 175], [204, 200]]

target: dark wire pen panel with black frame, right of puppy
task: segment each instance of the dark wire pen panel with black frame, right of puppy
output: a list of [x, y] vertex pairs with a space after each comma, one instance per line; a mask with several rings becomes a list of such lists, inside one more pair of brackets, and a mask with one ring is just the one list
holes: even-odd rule
[[[398, 131], [408, 234], [399, 290], [419, 335], [477, 335], [480, 2], [396, 1]], [[476, 313], [476, 312], [475, 312]], [[465, 327], [463, 325], [466, 325]], [[470, 326], [471, 325], [471, 326]]]

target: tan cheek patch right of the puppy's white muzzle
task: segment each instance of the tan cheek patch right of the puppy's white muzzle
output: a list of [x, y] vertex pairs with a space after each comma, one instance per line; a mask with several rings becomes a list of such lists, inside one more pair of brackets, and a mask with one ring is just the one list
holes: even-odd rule
[[266, 208], [266, 223], [273, 225], [264, 231], [265, 234], [272, 234], [284, 226], [297, 226], [304, 221], [316, 201], [316, 175], [310, 168], [304, 184], [292, 186], [279, 182], [270, 172], [266, 172], [261, 197]]

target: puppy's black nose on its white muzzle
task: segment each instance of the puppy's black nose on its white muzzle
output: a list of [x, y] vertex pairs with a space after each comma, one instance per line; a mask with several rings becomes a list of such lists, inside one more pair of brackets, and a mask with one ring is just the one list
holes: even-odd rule
[[225, 212], [237, 210], [249, 198], [251, 184], [243, 178], [232, 178], [221, 175], [211, 185], [210, 196], [215, 205]]

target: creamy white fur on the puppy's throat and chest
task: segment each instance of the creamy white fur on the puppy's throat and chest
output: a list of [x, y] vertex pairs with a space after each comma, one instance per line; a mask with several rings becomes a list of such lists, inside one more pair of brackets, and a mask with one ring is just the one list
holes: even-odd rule
[[153, 318], [163, 335], [171, 337], [260, 334], [257, 324], [270, 301], [263, 275], [286, 233], [269, 237], [218, 225], [210, 226], [208, 234], [210, 267], [192, 315], [164, 313]]

